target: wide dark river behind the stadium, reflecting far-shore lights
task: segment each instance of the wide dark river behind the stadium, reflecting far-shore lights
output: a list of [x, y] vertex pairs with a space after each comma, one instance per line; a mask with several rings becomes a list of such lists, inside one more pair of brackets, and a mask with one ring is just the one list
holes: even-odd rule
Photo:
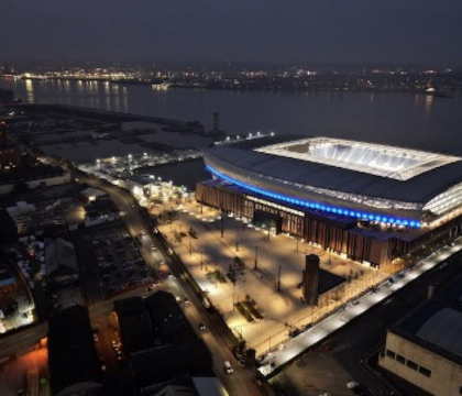
[[275, 131], [388, 143], [462, 155], [462, 98], [411, 94], [248, 92], [0, 79], [30, 101], [68, 103], [202, 122], [233, 133]]

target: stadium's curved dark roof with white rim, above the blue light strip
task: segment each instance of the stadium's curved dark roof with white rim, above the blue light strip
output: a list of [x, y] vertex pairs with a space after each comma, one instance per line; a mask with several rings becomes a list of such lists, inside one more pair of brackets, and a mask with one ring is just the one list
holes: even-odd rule
[[[320, 148], [322, 144], [327, 148]], [[330, 157], [326, 160], [317, 153], [316, 161], [311, 161], [312, 156], [306, 155], [310, 145], [315, 152], [330, 151]], [[296, 157], [290, 153], [280, 155], [287, 147], [295, 151]], [[360, 161], [352, 160], [354, 155], [364, 162], [360, 168], [356, 168]], [[378, 166], [380, 161], [386, 165]], [[460, 157], [399, 147], [315, 138], [256, 150], [219, 146], [206, 154], [205, 162], [230, 180], [255, 183], [270, 191], [272, 186], [277, 186], [279, 193], [287, 186], [290, 196], [297, 196], [297, 191], [301, 194], [300, 199], [309, 199], [309, 194], [318, 198], [323, 195], [331, 205], [337, 200], [338, 205], [355, 202], [370, 208], [421, 211], [436, 199], [426, 209], [440, 216], [455, 208], [450, 201], [462, 200], [462, 193], [457, 188], [462, 183]], [[446, 198], [448, 190], [451, 199]]]

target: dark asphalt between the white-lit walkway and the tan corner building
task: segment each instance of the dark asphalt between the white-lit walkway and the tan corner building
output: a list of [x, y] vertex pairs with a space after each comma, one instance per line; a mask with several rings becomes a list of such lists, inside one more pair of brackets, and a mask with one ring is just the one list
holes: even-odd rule
[[[458, 277], [460, 275], [458, 264], [461, 261], [462, 254], [454, 254], [447, 260], [449, 264], [443, 270], [437, 267], [424, 274], [326, 339], [321, 348], [304, 354], [301, 360], [287, 367], [282, 375], [286, 384], [286, 393], [292, 396], [317, 395], [316, 392], [307, 392], [307, 381], [310, 384], [317, 384], [318, 388], [329, 392], [332, 396], [348, 393], [344, 375], [329, 377], [328, 383], [324, 383], [327, 378], [312, 376], [312, 373], [322, 371], [320, 366], [314, 369], [318, 364], [321, 351], [322, 355], [330, 358], [332, 367], [339, 366], [340, 373], [348, 374], [348, 381], [359, 382], [369, 388], [372, 395], [391, 395], [394, 392], [395, 395], [427, 396], [426, 392], [378, 369], [376, 366], [377, 353], [384, 348], [386, 329], [424, 304], [430, 285], [438, 284], [441, 289]], [[339, 383], [340, 378], [341, 383]], [[343, 389], [343, 392], [339, 393], [338, 389]]]

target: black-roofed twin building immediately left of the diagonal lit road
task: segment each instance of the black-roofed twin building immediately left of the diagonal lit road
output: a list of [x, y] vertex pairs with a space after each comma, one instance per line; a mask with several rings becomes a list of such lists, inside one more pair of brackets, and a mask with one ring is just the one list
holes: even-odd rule
[[163, 395], [167, 385], [175, 386], [165, 395], [177, 394], [172, 393], [176, 386], [190, 393], [193, 378], [213, 377], [211, 353], [172, 294], [161, 290], [145, 299], [117, 300], [114, 308], [140, 395]]

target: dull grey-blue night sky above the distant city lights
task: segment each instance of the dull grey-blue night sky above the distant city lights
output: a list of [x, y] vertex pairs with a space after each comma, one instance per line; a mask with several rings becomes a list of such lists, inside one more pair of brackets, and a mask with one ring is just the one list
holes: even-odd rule
[[462, 66], [461, 0], [2, 0], [0, 61]]

